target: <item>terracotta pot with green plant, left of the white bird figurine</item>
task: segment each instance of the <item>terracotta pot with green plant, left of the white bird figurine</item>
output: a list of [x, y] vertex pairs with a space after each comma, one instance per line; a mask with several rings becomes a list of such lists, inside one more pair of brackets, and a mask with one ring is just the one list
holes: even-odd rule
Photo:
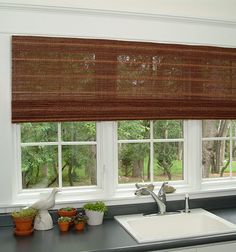
[[29, 235], [33, 232], [33, 221], [37, 214], [37, 209], [29, 207], [20, 211], [12, 212], [11, 216], [15, 224], [16, 235]]

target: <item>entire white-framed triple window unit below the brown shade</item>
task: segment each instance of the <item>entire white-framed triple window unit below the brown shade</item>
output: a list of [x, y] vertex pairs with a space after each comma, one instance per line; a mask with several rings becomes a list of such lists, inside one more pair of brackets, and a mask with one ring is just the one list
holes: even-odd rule
[[137, 200], [135, 183], [158, 188], [169, 181], [178, 193], [199, 193], [230, 189], [236, 179], [236, 121], [23, 123], [19, 129], [19, 200], [57, 186], [72, 202], [79, 193], [81, 201], [128, 197], [130, 203]]

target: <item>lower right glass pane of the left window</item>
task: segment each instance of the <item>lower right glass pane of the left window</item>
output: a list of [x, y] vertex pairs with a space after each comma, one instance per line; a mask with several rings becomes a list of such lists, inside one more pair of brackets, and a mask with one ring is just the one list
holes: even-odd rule
[[62, 147], [62, 185], [97, 184], [96, 145]]

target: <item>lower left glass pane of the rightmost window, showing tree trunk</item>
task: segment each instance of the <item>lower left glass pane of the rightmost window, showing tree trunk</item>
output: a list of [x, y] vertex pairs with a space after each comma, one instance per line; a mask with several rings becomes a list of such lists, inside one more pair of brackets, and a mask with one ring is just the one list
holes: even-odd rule
[[230, 176], [229, 153], [229, 141], [203, 141], [202, 177], [218, 178]]

